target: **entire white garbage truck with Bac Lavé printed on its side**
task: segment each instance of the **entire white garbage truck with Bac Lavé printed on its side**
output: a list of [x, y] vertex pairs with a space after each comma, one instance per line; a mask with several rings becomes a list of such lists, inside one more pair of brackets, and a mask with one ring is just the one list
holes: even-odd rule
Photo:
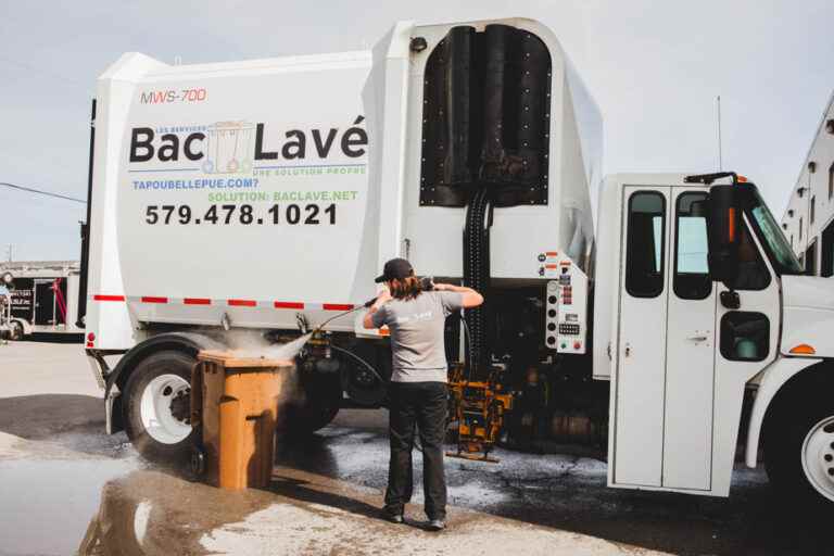
[[609, 486], [726, 496], [746, 444], [792, 504], [834, 502], [834, 282], [803, 276], [734, 173], [603, 177], [598, 110], [540, 23], [399, 23], [368, 51], [235, 63], [127, 53], [93, 119], [86, 352], [108, 430], [147, 456], [188, 453], [195, 354], [240, 330], [330, 319], [290, 430], [383, 407], [387, 331], [362, 305], [403, 256], [486, 299], [446, 325], [456, 455], [576, 441]]

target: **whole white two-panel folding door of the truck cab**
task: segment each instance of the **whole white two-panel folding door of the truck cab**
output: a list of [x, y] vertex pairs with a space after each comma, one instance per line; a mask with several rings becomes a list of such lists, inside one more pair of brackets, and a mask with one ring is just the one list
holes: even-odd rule
[[710, 489], [716, 292], [705, 199], [624, 188], [615, 484]]

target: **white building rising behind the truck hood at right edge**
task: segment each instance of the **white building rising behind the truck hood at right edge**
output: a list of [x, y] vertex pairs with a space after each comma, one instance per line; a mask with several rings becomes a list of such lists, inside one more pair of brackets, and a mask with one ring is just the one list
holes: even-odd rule
[[834, 94], [791, 193], [782, 230], [807, 274], [834, 275]]

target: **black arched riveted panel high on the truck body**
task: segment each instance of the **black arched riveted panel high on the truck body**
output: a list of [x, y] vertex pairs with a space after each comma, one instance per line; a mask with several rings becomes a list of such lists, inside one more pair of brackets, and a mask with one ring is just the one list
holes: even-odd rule
[[551, 71], [529, 31], [450, 30], [426, 66], [421, 205], [466, 206], [482, 188], [494, 206], [547, 204]]

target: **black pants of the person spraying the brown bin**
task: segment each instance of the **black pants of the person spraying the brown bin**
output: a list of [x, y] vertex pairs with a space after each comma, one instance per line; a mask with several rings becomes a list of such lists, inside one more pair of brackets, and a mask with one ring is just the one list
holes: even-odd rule
[[386, 511], [402, 514], [412, 500], [412, 448], [414, 426], [422, 445], [422, 492], [429, 519], [446, 518], [446, 479], [443, 473], [443, 438], [446, 426], [446, 384], [443, 382], [391, 382]]

